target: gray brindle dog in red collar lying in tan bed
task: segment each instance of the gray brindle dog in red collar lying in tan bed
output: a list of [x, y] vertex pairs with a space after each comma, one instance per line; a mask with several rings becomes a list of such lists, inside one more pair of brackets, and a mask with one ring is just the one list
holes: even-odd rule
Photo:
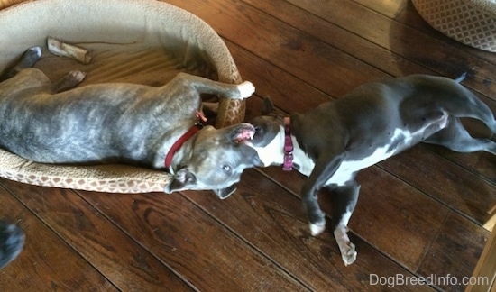
[[[211, 189], [225, 198], [243, 169], [258, 163], [241, 143], [251, 139], [249, 123], [199, 129], [200, 94], [246, 98], [252, 83], [224, 84], [179, 73], [163, 87], [96, 84], [70, 72], [60, 82], [36, 68], [41, 49], [27, 50], [0, 83], [0, 147], [25, 159], [56, 164], [123, 162], [169, 169], [166, 193]], [[189, 137], [191, 136], [191, 137]], [[177, 142], [178, 141], [178, 142]]]

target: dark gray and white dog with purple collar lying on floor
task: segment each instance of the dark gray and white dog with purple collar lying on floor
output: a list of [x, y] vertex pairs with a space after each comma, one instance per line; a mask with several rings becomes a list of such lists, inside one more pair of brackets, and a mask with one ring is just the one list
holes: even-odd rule
[[[418, 142], [453, 151], [487, 151], [496, 155], [496, 143], [474, 139], [460, 117], [481, 120], [496, 132], [494, 115], [460, 80], [412, 75], [365, 84], [306, 114], [291, 114], [283, 123], [266, 101], [265, 115], [253, 120], [252, 143], [262, 166], [294, 167], [308, 176], [301, 199], [312, 235], [325, 229], [325, 214], [317, 202], [322, 187], [333, 194], [331, 228], [345, 265], [356, 259], [347, 232], [358, 199], [360, 169], [409, 149]], [[275, 112], [274, 112], [275, 113]]]

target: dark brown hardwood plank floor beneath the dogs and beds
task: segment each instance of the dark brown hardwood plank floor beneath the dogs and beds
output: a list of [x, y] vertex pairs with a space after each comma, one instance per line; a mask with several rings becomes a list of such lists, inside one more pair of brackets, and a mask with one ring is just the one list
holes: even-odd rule
[[[496, 113], [496, 54], [436, 32], [408, 0], [165, 2], [197, 14], [225, 40], [257, 88], [247, 118], [260, 114], [264, 96], [283, 113], [301, 112], [364, 82], [412, 73], [468, 72], [464, 86]], [[466, 124], [491, 136], [481, 123]], [[349, 267], [330, 230], [310, 236], [299, 200], [304, 179], [250, 169], [225, 201], [209, 192], [115, 195], [0, 179], [0, 217], [27, 236], [19, 258], [0, 269], [0, 287], [382, 290], [393, 278], [448, 277], [448, 285], [395, 288], [464, 290], [489, 237], [482, 224], [496, 202], [496, 157], [418, 145], [363, 170], [349, 224], [358, 258]], [[328, 197], [321, 201], [332, 215]]]

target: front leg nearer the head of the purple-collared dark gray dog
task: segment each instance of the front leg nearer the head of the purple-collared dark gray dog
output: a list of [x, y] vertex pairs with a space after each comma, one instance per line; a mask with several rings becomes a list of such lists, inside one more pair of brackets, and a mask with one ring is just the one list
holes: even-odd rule
[[313, 236], [322, 233], [326, 229], [326, 215], [318, 205], [317, 193], [322, 187], [326, 186], [326, 182], [332, 178], [340, 164], [341, 159], [337, 157], [331, 162], [329, 160], [317, 162], [301, 189], [301, 200], [307, 212], [310, 233]]

